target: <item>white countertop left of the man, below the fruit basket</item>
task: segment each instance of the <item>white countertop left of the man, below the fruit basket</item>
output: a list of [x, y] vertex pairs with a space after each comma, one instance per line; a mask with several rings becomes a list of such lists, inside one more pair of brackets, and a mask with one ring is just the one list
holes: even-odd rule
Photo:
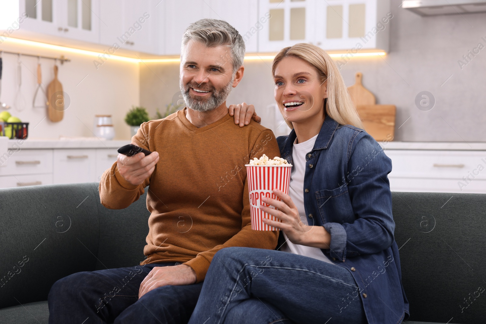
[[118, 149], [130, 144], [130, 140], [100, 140], [100, 139], [9, 139], [8, 148], [15, 149], [17, 144], [21, 149]]

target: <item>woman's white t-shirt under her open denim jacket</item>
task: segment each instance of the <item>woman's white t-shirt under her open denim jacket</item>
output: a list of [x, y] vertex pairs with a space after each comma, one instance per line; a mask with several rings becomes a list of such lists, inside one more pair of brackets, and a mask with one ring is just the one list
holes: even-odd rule
[[[304, 209], [304, 174], [307, 163], [305, 156], [307, 153], [312, 151], [316, 138], [317, 135], [312, 137], [311, 139], [306, 140], [305, 142], [298, 144], [295, 143], [297, 141], [297, 139], [295, 139], [294, 147], [292, 150], [293, 168], [290, 178], [289, 196], [290, 198], [292, 198], [292, 201], [299, 211], [300, 219], [306, 225], [308, 225], [308, 223]], [[280, 251], [290, 252], [301, 256], [309, 256], [313, 257], [314, 259], [334, 264], [327, 256], [324, 255], [324, 253], [322, 253], [321, 249], [311, 246], [294, 244], [290, 240], [288, 240], [287, 235], [285, 235], [283, 231], [282, 234], [287, 242], [282, 245]]]

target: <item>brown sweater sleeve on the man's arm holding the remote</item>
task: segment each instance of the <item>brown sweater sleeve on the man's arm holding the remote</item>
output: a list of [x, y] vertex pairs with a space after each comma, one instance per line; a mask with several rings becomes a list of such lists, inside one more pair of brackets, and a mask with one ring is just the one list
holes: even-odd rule
[[[149, 150], [148, 136], [144, 131], [146, 123], [140, 125], [137, 134], [132, 137], [132, 143]], [[155, 171], [154, 171], [155, 173]], [[144, 188], [150, 183], [150, 177], [140, 185], [132, 185], [126, 181], [118, 170], [117, 162], [113, 163], [110, 169], [103, 172], [101, 176], [99, 191], [101, 204], [109, 209], [122, 209], [139, 200]]]

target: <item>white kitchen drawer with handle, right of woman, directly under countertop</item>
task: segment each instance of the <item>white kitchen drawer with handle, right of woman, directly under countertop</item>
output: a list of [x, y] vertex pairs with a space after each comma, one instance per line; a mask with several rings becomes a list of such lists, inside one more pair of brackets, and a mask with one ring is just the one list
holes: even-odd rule
[[390, 177], [486, 180], [484, 151], [384, 150], [392, 160]]

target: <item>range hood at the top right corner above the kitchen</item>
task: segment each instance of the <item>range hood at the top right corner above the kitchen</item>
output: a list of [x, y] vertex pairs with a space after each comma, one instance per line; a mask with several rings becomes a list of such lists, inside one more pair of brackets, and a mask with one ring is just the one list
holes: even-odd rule
[[486, 12], [486, 0], [404, 0], [401, 6], [420, 16]]

